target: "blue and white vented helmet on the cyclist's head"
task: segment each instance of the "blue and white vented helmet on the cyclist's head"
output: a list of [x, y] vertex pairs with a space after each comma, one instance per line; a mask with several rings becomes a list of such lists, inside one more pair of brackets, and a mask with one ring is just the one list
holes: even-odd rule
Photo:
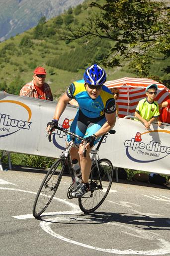
[[85, 70], [84, 80], [89, 85], [103, 85], [106, 82], [106, 72], [94, 64]]

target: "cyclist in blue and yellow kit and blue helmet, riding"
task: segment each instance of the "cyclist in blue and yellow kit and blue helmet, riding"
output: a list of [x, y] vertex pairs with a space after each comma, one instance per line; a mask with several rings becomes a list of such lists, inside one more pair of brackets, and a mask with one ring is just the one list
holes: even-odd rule
[[47, 124], [47, 131], [49, 131], [51, 124], [56, 128], [68, 102], [73, 98], [77, 100], [79, 110], [71, 124], [70, 131], [86, 138], [88, 143], [85, 145], [86, 157], [83, 154], [83, 141], [76, 141], [77, 147], [72, 147], [70, 152], [72, 160], [77, 159], [79, 161], [82, 171], [82, 183], [72, 192], [72, 196], [76, 198], [82, 197], [89, 188], [88, 178], [91, 171], [89, 153], [91, 148], [116, 122], [115, 100], [111, 91], [103, 85], [105, 81], [104, 69], [97, 64], [88, 67], [84, 73], [84, 80], [71, 84], [60, 98], [54, 118]]

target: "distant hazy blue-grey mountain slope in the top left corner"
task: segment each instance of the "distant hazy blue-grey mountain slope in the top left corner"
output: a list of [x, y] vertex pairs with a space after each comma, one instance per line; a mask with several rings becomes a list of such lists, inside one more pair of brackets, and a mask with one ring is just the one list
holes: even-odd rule
[[38, 24], [42, 16], [55, 17], [84, 0], [0, 0], [0, 41]]

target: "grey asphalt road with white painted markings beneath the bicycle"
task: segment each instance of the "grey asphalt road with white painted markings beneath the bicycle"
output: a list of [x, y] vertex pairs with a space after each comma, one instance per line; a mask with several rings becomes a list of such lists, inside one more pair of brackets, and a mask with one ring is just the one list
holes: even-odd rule
[[43, 177], [0, 171], [0, 256], [170, 256], [170, 189], [113, 183], [104, 203], [85, 215], [77, 199], [67, 199], [64, 176], [37, 220], [32, 206]]

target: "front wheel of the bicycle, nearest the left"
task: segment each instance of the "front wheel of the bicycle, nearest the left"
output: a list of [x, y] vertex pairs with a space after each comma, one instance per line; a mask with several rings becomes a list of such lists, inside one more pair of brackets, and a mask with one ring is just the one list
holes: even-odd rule
[[66, 160], [58, 159], [45, 175], [33, 205], [33, 216], [39, 217], [47, 209], [60, 184]]

